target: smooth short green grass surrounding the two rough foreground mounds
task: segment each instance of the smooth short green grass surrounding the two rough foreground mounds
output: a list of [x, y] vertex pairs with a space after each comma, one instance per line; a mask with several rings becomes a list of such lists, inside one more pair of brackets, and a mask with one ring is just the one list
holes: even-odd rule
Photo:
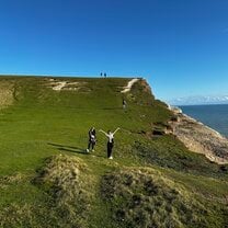
[[[10, 80], [15, 83], [15, 101], [0, 113], [0, 210], [3, 216], [12, 216], [5, 221], [8, 226], [24, 227], [25, 223], [23, 219], [12, 221], [9, 209], [12, 205], [21, 208], [19, 217], [22, 218], [23, 208], [41, 208], [35, 217], [27, 215], [31, 219], [27, 227], [31, 224], [33, 227], [57, 226], [58, 214], [45, 216], [52, 208], [49, 195], [31, 180], [44, 166], [45, 158], [59, 153], [83, 160], [88, 166], [84, 172], [90, 176], [86, 180], [87, 187], [98, 196], [93, 197], [93, 213], [87, 216], [82, 227], [116, 226], [111, 219], [110, 204], [101, 198], [100, 182], [105, 173], [126, 167], [158, 170], [162, 176], [176, 182], [176, 187], [185, 187], [206, 208], [212, 208], [208, 216], [212, 227], [225, 225], [227, 167], [221, 169], [203, 156], [190, 152], [174, 137], [148, 138], [144, 133], [150, 130], [151, 123], [164, 123], [171, 113], [146, 93], [140, 83], [126, 94], [128, 110], [124, 112], [119, 91], [128, 79], [67, 79], [87, 82], [79, 91], [54, 91], [45, 78]], [[106, 159], [106, 139], [100, 134], [95, 152], [84, 153], [91, 126], [104, 130], [122, 128], [115, 137], [113, 161]], [[7, 176], [14, 178], [8, 180]]]

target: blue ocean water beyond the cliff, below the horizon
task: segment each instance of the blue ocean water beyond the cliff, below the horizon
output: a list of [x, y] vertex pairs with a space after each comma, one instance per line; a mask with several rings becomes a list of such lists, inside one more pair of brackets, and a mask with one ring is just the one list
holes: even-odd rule
[[228, 137], [228, 104], [179, 106], [186, 115]]

